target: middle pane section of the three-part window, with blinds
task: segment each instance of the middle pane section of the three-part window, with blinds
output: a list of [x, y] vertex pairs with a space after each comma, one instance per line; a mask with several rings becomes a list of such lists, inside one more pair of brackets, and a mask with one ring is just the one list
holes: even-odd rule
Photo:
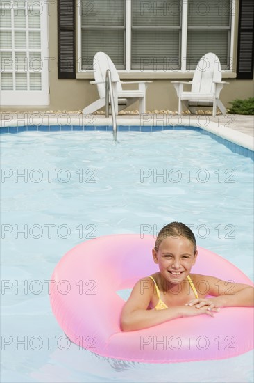
[[180, 69], [180, 0], [134, 0], [131, 5], [131, 69]]

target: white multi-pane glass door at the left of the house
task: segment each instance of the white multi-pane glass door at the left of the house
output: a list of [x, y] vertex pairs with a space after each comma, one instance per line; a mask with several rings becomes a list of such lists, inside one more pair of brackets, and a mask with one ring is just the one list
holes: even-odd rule
[[0, 0], [1, 105], [49, 104], [47, 1]]

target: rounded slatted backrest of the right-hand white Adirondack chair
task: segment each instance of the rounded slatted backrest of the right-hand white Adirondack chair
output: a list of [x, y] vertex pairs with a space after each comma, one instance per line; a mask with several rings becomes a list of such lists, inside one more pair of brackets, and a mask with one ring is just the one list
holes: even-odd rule
[[221, 81], [221, 64], [214, 53], [205, 54], [196, 66], [192, 80], [192, 92], [214, 93], [213, 81]]

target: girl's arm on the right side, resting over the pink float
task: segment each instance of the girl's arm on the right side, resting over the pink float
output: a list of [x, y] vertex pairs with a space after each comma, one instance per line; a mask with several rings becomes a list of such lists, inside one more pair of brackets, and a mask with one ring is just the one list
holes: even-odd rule
[[222, 281], [214, 276], [198, 276], [199, 281], [208, 283], [208, 295], [212, 298], [192, 299], [189, 306], [201, 308], [203, 306], [215, 307], [253, 307], [254, 306], [254, 288], [244, 283], [235, 283], [233, 281]]

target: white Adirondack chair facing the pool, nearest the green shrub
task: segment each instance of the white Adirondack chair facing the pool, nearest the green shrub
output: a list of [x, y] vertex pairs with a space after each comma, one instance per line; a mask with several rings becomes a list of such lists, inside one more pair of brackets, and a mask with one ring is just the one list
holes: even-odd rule
[[[225, 81], [221, 81], [221, 63], [214, 53], [205, 54], [196, 66], [192, 81], [171, 81], [178, 95], [178, 114], [182, 114], [182, 102], [194, 113], [194, 107], [212, 107], [212, 116], [216, 116], [217, 107], [222, 114], [226, 108], [219, 99]], [[190, 92], [183, 91], [184, 84], [192, 84]]]

